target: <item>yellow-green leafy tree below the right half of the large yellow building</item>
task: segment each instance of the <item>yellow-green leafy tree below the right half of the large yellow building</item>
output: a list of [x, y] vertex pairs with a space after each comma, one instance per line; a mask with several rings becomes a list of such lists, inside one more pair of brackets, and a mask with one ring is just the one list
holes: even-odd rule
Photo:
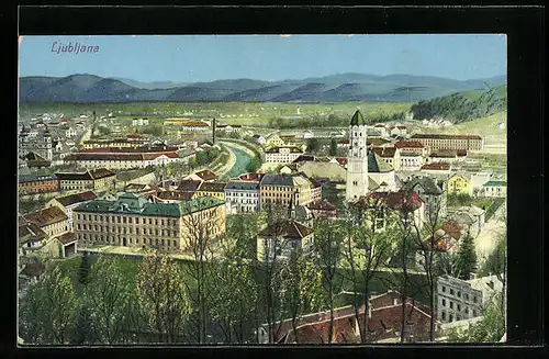
[[155, 253], [143, 258], [136, 284], [143, 314], [158, 341], [178, 341], [191, 313], [181, 268], [170, 257]]

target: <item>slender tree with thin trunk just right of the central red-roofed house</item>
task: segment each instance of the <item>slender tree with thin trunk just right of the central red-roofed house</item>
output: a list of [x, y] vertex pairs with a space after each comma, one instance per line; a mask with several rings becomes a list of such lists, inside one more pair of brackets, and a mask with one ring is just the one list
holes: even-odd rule
[[316, 269], [322, 273], [322, 284], [329, 306], [328, 343], [334, 336], [334, 298], [343, 284], [337, 268], [341, 253], [344, 233], [341, 225], [330, 220], [320, 220], [314, 228], [314, 251]]

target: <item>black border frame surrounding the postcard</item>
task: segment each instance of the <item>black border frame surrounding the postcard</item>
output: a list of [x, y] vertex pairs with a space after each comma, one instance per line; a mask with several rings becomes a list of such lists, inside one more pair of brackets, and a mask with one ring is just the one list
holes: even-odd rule
[[[36, 1], [34, 1], [36, 2]], [[11, 68], [15, 76], [8, 82], [4, 99], [11, 105], [10, 116], [2, 121], [7, 126], [4, 153], [9, 158], [16, 158], [15, 122], [18, 93], [18, 41], [16, 35], [47, 34], [328, 34], [328, 33], [505, 33], [508, 49], [508, 343], [504, 347], [486, 346], [439, 346], [439, 345], [399, 345], [385, 347], [372, 346], [355, 348], [334, 347], [208, 347], [176, 349], [161, 347], [165, 355], [390, 355], [394, 357], [444, 352], [445, 356], [479, 354], [481, 348], [493, 348], [494, 356], [511, 356], [516, 348], [520, 355], [540, 354], [534, 346], [544, 344], [544, 101], [545, 101], [545, 8], [541, 7], [21, 7], [14, 8], [8, 16], [2, 16], [12, 25], [9, 33], [3, 33], [8, 47], [14, 48]], [[19, 21], [19, 29], [18, 29]], [[5, 66], [5, 65], [4, 65]], [[15, 85], [15, 87], [13, 87]], [[13, 115], [13, 116], [12, 116]], [[16, 162], [11, 173], [16, 173]], [[10, 173], [10, 175], [11, 175]], [[5, 175], [4, 175], [5, 177]], [[4, 184], [13, 193], [11, 203], [15, 204], [16, 176], [9, 177]], [[13, 182], [11, 181], [13, 180]], [[16, 212], [2, 206], [2, 218], [10, 218], [7, 227], [14, 228]], [[10, 231], [10, 235], [14, 236]], [[10, 237], [13, 238], [13, 237]], [[9, 244], [7, 246], [7, 244]], [[2, 281], [4, 293], [15, 307], [15, 272], [13, 255], [16, 251], [14, 240], [5, 240], [2, 253], [8, 260], [2, 261], [5, 279]], [[11, 277], [11, 278], [10, 278]], [[5, 304], [4, 304], [5, 305]], [[8, 304], [8, 306], [10, 306]], [[5, 312], [4, 312], [5, 313]], [[2, 314], [7, 318], [7, 315]], [[14, 324], [16, 312], [2, 328], [0, 356], [3, 352], [23, 356], [75, 352], [65, 349], [16, 349]], [[2, 321], [3, 322], [3, 321]], [[5, 339], [4, 339], [5, 338]], [[4, 344], [8, 340], [8, 344]], [[515, 347], [525, 346], [525, 347]], [[528, 346], [530, 346], [528, 348]], [[429, 348], [425, 349], [424, 348]], [[113, 354], [139, 351], [155, 355], [160, 347], [144, 349], [112, 349]], [[197, 347], [192, 347], [197, 348]], [[221, 350], [220, 350], [221, 349]], [[546, 348], [547, 349], [547, 348]], [[103, 355], [108, 349], [92, 349], [96, 355]], [[191, 351], [192, 350], [192, 351]], [[81, 352], [75, 352], [81, 355]], [[131, 354], [131, 355], [132, 355]], [[547, 354], [547, 350], [546, 350]], [[485, 355], [485, 354], [483, 354]], [[516, 355], [516, 352], [515, 352]]]

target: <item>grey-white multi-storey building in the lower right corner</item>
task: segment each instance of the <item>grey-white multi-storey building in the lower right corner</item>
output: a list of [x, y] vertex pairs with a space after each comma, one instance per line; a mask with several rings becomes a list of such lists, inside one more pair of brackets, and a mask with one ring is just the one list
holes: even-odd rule
[[492, 295], [501, 291], [502, 287], [496, 276], [472, 280], [439, 277], [436, 289], [437, 319], [451, 323], [481, 316]]

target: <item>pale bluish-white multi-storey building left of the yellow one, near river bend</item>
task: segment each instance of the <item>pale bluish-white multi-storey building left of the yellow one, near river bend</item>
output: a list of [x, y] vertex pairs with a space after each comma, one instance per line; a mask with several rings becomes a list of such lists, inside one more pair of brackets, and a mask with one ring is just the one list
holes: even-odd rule
[[227, 213], [256, 213], [260, 209], [259, 180], [231, 180], [225, 186]]

